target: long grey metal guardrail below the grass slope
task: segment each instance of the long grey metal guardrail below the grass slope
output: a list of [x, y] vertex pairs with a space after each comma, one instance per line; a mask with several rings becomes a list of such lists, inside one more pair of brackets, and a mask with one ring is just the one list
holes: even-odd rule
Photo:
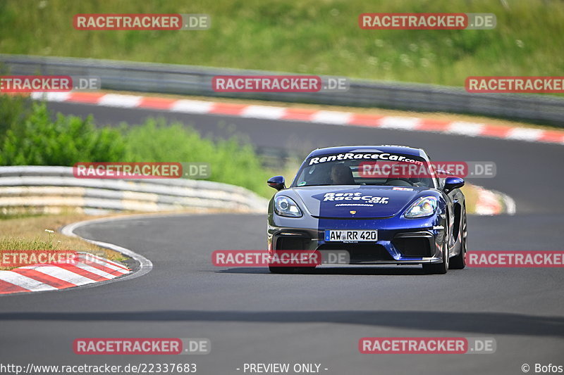
[[564, 127], [564, 98], [532, 94], [471, 94], [461, 88], [350, 80], [343, 92], [216, 93], [215, 75], [264, 75], [281, 72], [204, 68], [189, 65], [132, 63], [87, 58], [57, 58], [0, 54], [12, 75], [90, 75], [100, 77], [102, 89], [197, 96], [223, 96], [270, 101], [320, 103], [470, 113]]

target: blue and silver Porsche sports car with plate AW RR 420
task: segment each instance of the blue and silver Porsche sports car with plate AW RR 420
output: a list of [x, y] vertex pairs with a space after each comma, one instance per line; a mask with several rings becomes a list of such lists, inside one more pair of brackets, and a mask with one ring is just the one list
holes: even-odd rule
[[[351, 265], [422, 265], [429, 274], [464, 268], [464, 180], [439, 177], [430, 163], [421, 148], [407, 146], [312, 151], [290, 186], [282, 176], [268, 181], [277, 190], [269, 202], [269, 256], [340, 250]], [[417, 173], [420, 167], [427, 173]], [[273, 273], [299, 269], [269, 265]]]

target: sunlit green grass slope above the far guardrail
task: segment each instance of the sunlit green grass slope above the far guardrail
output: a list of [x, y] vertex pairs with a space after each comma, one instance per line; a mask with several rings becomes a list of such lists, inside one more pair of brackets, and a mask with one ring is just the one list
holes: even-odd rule
[[[495, 30], [361, 30], [360, 13], [495, 13]], [[75, 13], [208, 13], [205, 31], [78, 31]], [[462, 86], [468, 75], [562, 75], [558, 0], [0, 2], [0, 51]]]

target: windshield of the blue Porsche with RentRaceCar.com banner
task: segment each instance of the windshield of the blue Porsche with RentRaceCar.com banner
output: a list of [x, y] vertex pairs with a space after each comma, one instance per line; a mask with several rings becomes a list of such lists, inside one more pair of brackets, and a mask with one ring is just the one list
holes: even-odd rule
[[[345, 157], [348, 155], [348, 157]], [[414, 155], [341, 153], [316, 156], [302, 165], [293, 186], [388, 185], [435, 187], [429, 163]]]

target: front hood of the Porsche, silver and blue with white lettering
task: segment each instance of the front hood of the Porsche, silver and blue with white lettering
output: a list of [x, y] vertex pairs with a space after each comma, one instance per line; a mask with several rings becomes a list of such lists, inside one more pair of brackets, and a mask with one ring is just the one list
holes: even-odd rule
[[[397, 215], [427, 188], [404, 186], [302, 186], [292, 189], [314, 217], [378, 218]], [[298, 203], [300, 204], [300, 203]]]

